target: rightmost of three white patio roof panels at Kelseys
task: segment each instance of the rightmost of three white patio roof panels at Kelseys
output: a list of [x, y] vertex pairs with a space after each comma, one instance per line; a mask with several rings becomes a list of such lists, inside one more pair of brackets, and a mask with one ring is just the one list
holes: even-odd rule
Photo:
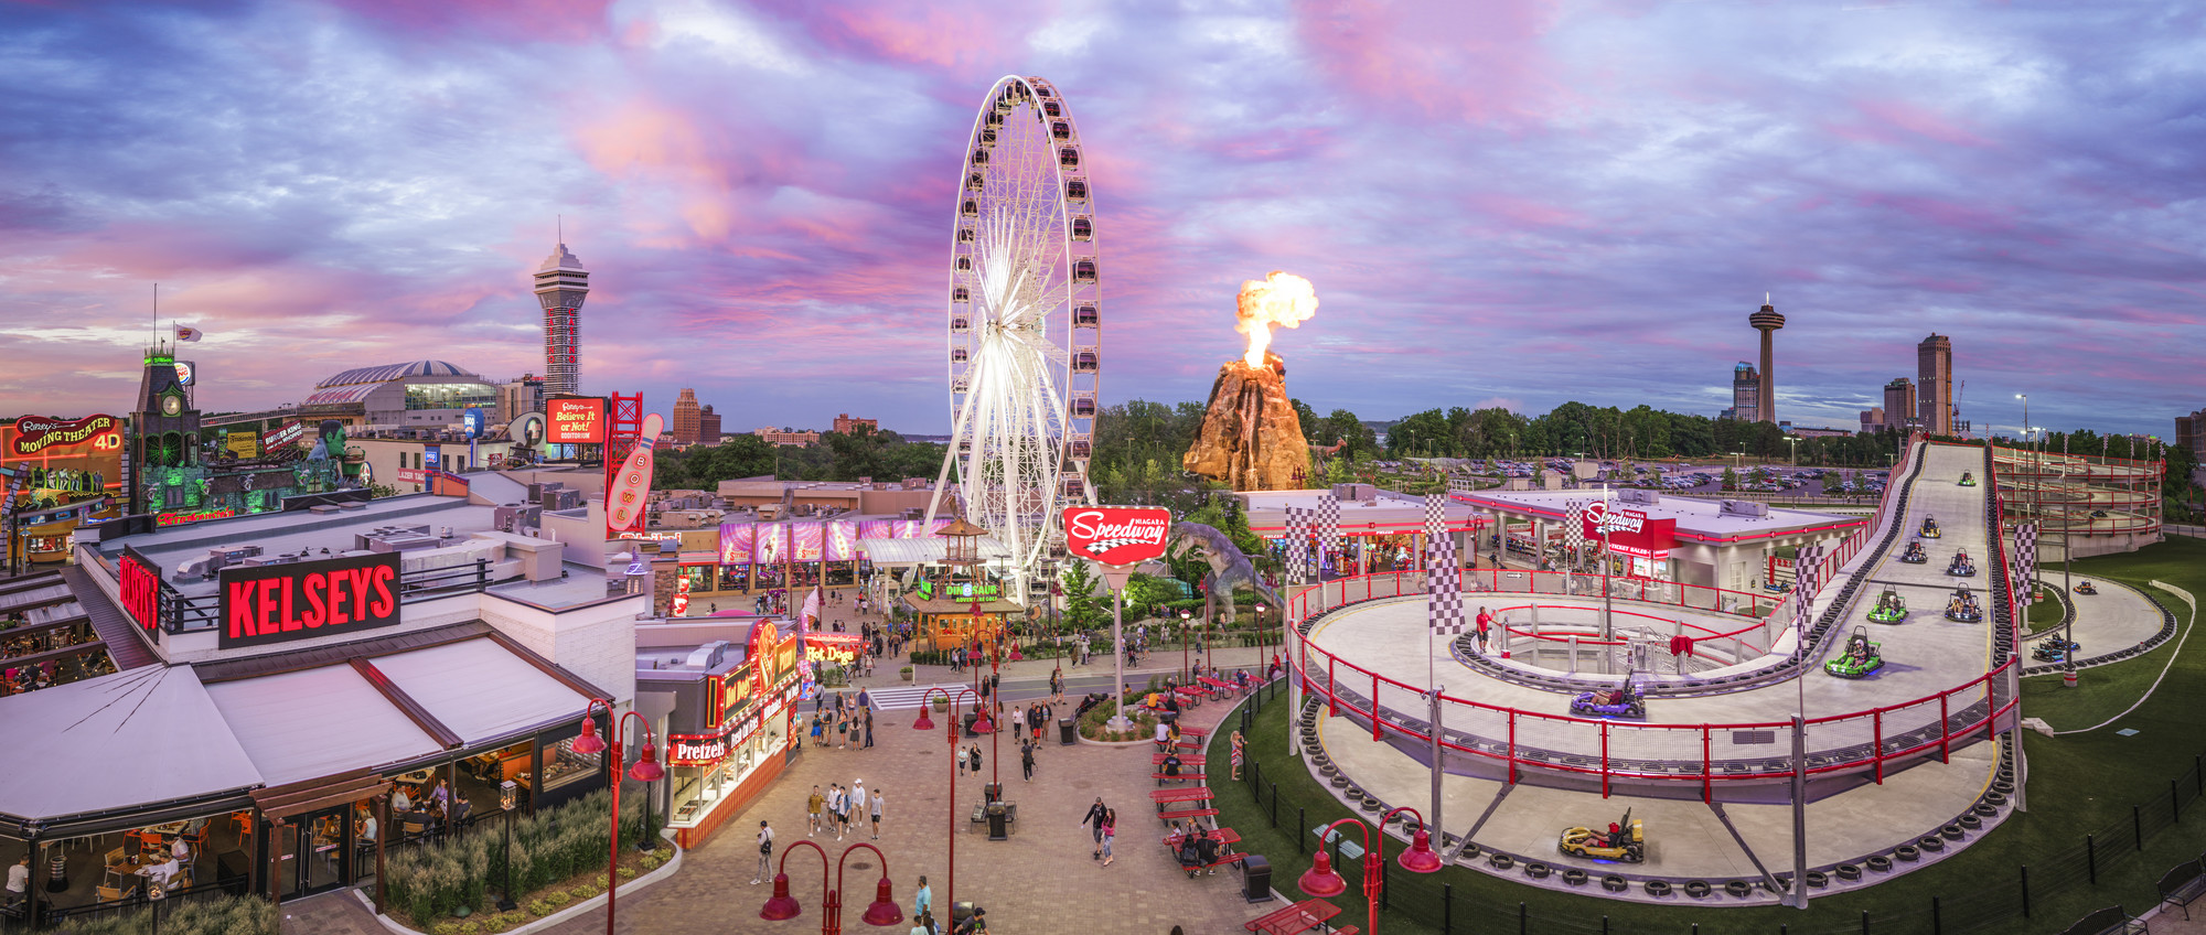
[[574, 719], [589, 703], [582, 692], [488, 637], [377, 655], [371, 662], [468, 743]]

